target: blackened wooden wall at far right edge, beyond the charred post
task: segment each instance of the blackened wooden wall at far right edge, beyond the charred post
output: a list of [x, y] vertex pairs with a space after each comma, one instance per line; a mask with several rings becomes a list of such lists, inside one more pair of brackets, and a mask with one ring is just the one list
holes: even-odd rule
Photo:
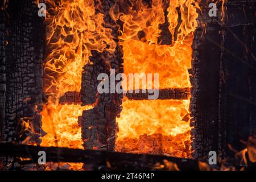
[[[230, 27], [224, 34], [226, 49], [222, 51], [221, 141], [236, 146], [237, 150], [243, 148], [240, 140], [247, 140], [256, 134], [256, 69], [253, 69], [256, 68], [256, 51], [255, 40], [251, 39], [255, 35], [255, 25]], [[224, 149], [228, 155], [232, 155], [228, 146], [224, 145]]]

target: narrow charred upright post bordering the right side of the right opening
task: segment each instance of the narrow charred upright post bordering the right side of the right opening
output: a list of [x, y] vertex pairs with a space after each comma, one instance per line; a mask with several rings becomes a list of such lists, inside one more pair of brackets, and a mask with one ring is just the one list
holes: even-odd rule
[[[219, 41], [218, 28], [208, 27], [207, 35]], [[202, 41], [203, 39], [203, 41]], [[208, 47], [208, 49], [205, 49]], [[211, 56], [208, 56], [211, 55]], [[191, 150], [193, 158], [217, 151], [218, 83], [220, 75], [220, 48], [201, 38], [197, 30], [193, 41], [191, 76]]]

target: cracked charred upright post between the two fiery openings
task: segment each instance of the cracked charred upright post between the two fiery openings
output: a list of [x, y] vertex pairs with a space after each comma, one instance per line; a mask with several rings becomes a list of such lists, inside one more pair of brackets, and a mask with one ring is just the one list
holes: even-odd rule
[[[95, 1], [97, 6], [97, 1]], [[79, 122], [82, 125], [82, 139], [86, 149], [97, 148], [99, 150], [114, 150], [115, 135], [118, 127], [115, 118], [121, 113], [122, 94], [99, 94], [97, 86], [100, 83], [97, 76], [106, 73], [110, 76], [110, 69], [115, 69], [116, 73], [123, 72], [123, 53], [118, 45], [118, 26], [109, 15], [110, 7], [114, 1], [101, 2], [102, 9], [97, 11], [104, 14], [105, 26], [112, 29], [113, 39], [116, 48], [113, 53], [108, 51], [91, 51], [91, 63], [86, 64], [82, 72], [81, 83], [81, 105], [96, 106], [91, 110], [83, 111]], [[110, 85], [109, 85], [110, 86]]]

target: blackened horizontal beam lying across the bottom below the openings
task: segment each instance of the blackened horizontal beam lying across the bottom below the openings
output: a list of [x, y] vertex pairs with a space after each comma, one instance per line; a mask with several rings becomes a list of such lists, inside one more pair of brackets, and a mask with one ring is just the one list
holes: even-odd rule
[[32, 163], [38, 162], [39, 151], [46, 152], [46, 162], [85, 163], [85, 165], [90, 166], [94, 170], [154, 170], [156, 169], [156, 164], [163, 164], [163, 160], [177, 164], [177, 167], [181, 170], [199, 170], [198, 160], [174, 158], [164, 155], [126, 154], [121, 152], [39, 147], [10, 143], [0, 144], [0, 156], [30, 158]]

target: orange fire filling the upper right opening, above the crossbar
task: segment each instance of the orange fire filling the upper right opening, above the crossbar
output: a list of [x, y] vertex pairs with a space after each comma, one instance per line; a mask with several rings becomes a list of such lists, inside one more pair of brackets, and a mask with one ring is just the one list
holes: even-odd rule
[[159, 89], [191, 86], [187, 71], [191, 67], [192, 54], [189, 42], [185, 42], [183, 46], [175, 44], [170, 48], [167, 45], [149, 45], [140, 40], [128, 40], [123, 43], [123, 54], [126, 75], [159, 73]]

